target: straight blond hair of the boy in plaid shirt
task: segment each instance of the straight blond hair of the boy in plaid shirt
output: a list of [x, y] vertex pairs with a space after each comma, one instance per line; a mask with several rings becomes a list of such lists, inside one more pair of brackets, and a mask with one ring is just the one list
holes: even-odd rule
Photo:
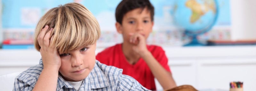
[[53, 28], [51, 46], [60, 54], [75, 50], [78, 47], [95, 44], [100, 38], [100, 25], [84, 5], [67, 3], [52, 8], [44, 14], [36, 25], [34, 45], [37, 51], [40, 46], [37, 37], [45, 25]]

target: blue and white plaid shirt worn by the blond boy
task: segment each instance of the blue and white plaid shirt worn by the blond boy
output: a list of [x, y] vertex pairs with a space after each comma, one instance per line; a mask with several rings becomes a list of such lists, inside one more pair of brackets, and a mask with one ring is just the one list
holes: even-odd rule
[[[22, 72], [15, 78], [13, 91], [30, 91], [36, 85], [43, 70], [43, 62]], [[147, 88], [130, 76], [122, 74], [123, 70], [101, 64], [96, 64], [91, 73], [84, 79], [79, 91], [149, 91]], [[47, 88], [47, 87], [45, 87]], [[57, 91], [76, 91], [75, 88], [65, 81], [60, 75], [58, 77]]]

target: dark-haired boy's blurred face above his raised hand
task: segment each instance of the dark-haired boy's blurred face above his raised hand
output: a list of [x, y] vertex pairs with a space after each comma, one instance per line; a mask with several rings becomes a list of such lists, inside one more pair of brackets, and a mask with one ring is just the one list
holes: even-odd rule
[[147, 8], [143, 10], [137, 8], [127, 12], [123, 17], [122, 25], [118, 23], [116, 28], [119, 33], [123, 34], [124, 42], [129, 43], [130, 33], [139, 33], [147, 39], [152, 32], [153, 25], [150, 11]]

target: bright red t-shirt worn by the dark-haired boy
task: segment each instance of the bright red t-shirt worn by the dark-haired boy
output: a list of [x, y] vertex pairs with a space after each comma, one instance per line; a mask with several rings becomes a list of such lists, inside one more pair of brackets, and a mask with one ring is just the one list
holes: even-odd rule
[[[171, 72], [168, 66], [168, 59], [162, 47], [147, 45], [147, 48], [155, 57], [155, 59], [167, 71]], [[98, 53], [96, 59], [108, 66], [115, 66], [123, 69], [123, 74], [132, 76], [134, 79], [139, 81], [140, 84], [145, 88], [148, 88], [150, 90], [156, 90], [154, 76], [146, 62], [142, 58], [140, 58], [136, 64], [129, 64], [124, 56], [122, 44], [116, 44], [115, 46], [108, 47], [107, 49]]]

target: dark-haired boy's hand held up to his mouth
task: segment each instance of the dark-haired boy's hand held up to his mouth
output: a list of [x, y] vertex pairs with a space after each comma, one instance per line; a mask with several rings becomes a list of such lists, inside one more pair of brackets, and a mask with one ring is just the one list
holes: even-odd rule
[[146, 52], [148, 52], [147, 45], [146, 45], [146, 39], [145, 37], [140, 33], [130, 33], [130, 43], [134, 44], [132, 46], [133, 51], [138, 53], [139, 55], [142, 55]]

